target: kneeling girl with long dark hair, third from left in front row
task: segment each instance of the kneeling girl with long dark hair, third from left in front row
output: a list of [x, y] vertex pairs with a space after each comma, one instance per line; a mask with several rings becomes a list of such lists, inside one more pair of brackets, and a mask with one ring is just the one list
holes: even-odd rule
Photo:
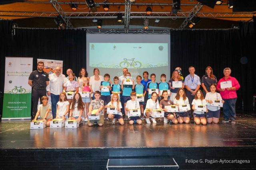
[[78, 121], [78, 125], [82, 123], [82, 113], [84, 111], [84, 103], [80, 93], [75, 93], [70, 106], [69, 120]]

